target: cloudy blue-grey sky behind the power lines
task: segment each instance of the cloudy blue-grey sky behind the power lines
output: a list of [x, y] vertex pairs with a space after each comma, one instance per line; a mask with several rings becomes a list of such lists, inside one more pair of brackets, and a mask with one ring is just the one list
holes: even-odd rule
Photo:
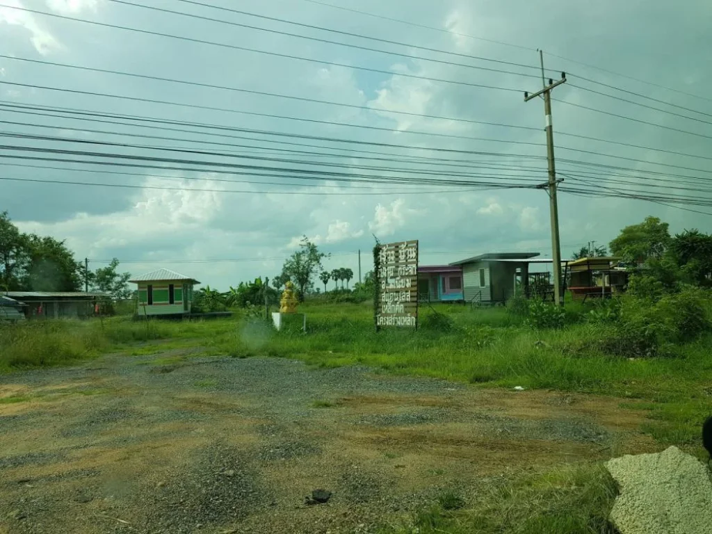
[[[301, 236], [355, 273], [375, 238], [418, 239], [421, 265], [551, 257], [546, 192], [502, 187], [547, 179], [543, 102], [523, 98], [542, 87], [537, 49], [547, 78], [567, 73], [553, 90], [563, 189], [701, 198], [710, 27], [708, 0], [0, 0], [0, 211], [91, 268], [118, 258], [220, 289], [276, 276]], [[648, 215], [712, 231], [666, 202], [562, 190], [562, 256]]]

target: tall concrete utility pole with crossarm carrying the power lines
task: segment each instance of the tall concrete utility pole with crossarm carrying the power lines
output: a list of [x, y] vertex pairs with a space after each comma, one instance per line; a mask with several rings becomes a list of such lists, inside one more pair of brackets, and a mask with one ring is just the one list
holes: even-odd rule
[[551, 246], [553, 249], [554, 259], [554, 300], [557, 305], [561, 305], [561, 245], [559, 243], [559, 206], [556, 200], [556, 186], [563, 180], [556, 179], [556, 167], [554, 164], [554, 130], [551, 123], [551, 91], [553, 88], [566, 83], [566, 73], [561, 73], [561, 79], [554, 82], [549, 78], [547, 85], [544, 78], [544, 53], [539, 51], [539, 59], [541, 61], [541, 83], [543, 89], [537, 91], [533, 95], [524, 93], [524, 101], [529, 102], [533, 98], [543, 95], [544, 97], [544, 114], [546, 115], [546, 155], [549, 161], [549, 181], [540, 186], [541, 189], [548, 189], [549, 206], [551, 212]]

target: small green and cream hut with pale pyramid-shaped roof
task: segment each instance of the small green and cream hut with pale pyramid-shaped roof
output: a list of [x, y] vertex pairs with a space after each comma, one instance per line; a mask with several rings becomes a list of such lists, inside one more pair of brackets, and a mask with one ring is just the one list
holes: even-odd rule
[[193, 302], [195, 278], [159, 269], [134, 278], [138, 284], [137, 315], [187, 315]]

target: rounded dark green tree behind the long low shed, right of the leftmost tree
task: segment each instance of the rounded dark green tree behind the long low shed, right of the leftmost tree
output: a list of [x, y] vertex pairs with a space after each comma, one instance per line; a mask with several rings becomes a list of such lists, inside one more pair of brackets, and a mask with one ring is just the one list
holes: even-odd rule
[[28, 236], [29, 264], [23, 285], [33, 291], [78, 291], [84, 266], [74, 261], [64, 241]]

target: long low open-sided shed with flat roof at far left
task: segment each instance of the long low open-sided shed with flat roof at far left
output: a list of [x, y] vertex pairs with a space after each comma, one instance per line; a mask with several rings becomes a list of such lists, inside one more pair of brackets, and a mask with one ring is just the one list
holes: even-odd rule
[[76, 319], [94, 315], [98, 300], [110, 298], [106, 293], [84, 291], [6, 291], [5, 296], [21, 299], [27, 305], [28, 318]]

